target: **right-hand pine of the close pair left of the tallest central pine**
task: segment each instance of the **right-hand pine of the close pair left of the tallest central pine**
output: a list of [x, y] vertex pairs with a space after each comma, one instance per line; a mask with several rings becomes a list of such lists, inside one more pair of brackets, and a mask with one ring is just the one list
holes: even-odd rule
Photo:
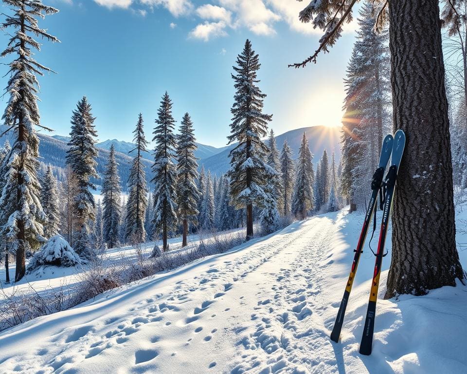
[[183, 225], [181, 246], [184, 247], [188, 245], [188, 226], [198, 223], [199, 213], [199, 192], [196, 185], [198, 164], [195, 157], [198, 146], [193, 133], [193, 122], [188, 113], [183, 115], [177, 140], [177, 205], [179, 219]]

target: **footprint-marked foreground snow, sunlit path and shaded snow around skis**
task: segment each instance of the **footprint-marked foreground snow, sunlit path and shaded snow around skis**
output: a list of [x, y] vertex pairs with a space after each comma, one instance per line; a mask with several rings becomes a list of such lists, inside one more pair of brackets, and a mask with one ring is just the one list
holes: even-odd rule
[[461, 284], [378, 301], [373, 353], [359, 355], [369, 250], [341, 341], [329, 339], [361, 220], [341, 211], [296, 222], [6, 330], [0, 373], [467, 373]]

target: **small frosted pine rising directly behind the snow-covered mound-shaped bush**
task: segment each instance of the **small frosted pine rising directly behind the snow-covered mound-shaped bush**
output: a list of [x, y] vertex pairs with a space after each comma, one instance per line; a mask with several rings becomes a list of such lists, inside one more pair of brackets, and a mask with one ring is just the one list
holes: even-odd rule
[[49, 165], [41, 181], [40, 202], [46, 216], [44, 238], [49, 239], [58, 234], [60, 224], [60, 209], [58, 207], [57, 179]]

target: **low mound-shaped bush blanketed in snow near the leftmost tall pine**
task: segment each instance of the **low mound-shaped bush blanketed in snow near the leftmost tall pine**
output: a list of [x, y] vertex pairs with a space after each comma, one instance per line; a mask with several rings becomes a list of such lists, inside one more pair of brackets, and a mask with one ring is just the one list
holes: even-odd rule
[[81, 263], [81, 259], [60, 234], [50, 238], [36, 252], [29, 262], [28, 270], [34, 270], [41, 265], [74, 266]]

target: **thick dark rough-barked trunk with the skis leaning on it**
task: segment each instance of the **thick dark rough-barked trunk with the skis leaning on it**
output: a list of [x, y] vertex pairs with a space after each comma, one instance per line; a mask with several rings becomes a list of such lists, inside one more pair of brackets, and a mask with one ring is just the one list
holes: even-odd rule
[[455, 285], [448, 102], [437, 0], [389, 1], [394, 126], [407, 136], [395, 189], [386, 298]]

